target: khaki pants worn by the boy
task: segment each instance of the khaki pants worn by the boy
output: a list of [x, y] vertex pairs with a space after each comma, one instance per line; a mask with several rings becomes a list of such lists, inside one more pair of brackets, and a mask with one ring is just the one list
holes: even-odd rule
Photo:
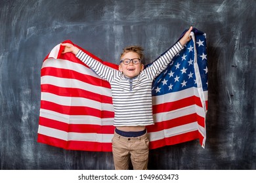
[[131, 158], [133, 169], [148, 169], [148, 145], [146, 133], [140, 137], [123, 137], [115, 131], [112, 139], [115, 169], [129, 169], [129, 158]]

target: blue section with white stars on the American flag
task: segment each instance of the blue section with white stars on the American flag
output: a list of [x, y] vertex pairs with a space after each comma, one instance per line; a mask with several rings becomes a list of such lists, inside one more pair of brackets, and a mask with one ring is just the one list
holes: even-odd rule
[[[184, 49], [177, 55], [167, 69], [158, 75], [152, 84], [152, 95], [163, 95], [165, 93], [178, 92], [191, 87], [198, 87], [196, 82], [196, 71], [199, 70], [203, 91], [207, 91], [207, 53], [206, 53], [206, 34], [192, 30], [196, 40], [196, 52], [198, 69], [194, 62], [195, 48], [194, 41], [191, 39]], [[186, 32], [186, 31], [184, 31]], [[184, 33], [183, 33], [184, 34]], [[182, 37], [182, 36], [181, 36]], [[164, 53], [163, 53], [164, 54]]]

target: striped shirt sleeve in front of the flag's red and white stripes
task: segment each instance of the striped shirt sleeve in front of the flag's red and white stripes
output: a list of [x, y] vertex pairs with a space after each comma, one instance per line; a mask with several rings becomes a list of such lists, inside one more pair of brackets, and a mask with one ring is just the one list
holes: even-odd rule
[[88, 65], [88, 67], [90, 67], [96, 75], [100, 76], [100, 78], [108, 80], [108, 82], [112, 81], [115, 73], [114, 69], [100, 63], [100, 61], [97, 61], [94, 58], [91, 58], [91, 56], [85, 54], [82, 50], [79, 50], [75, 56]]

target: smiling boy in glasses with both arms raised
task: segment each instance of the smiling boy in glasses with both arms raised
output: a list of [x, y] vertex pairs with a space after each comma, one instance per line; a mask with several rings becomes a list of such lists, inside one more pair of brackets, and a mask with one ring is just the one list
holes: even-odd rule
[[190, 40], [191, 31], [192, 27], [179, 42], [146, 69], [141, 63], [143, 49], [140, 46], [130, 46], [123, 50], [117, 71], [96, 61], [72, 44], [62, 44], [65, 46], [63, 54], [72, 52], [98, 76], [110, 82], [116, 126], [112, 139], [115, 169], [129, 169], [129, 158], [133, 169], [147, 169], [149, 140], [146, 125], [154, 124], [152, 82], [184, 48]]

